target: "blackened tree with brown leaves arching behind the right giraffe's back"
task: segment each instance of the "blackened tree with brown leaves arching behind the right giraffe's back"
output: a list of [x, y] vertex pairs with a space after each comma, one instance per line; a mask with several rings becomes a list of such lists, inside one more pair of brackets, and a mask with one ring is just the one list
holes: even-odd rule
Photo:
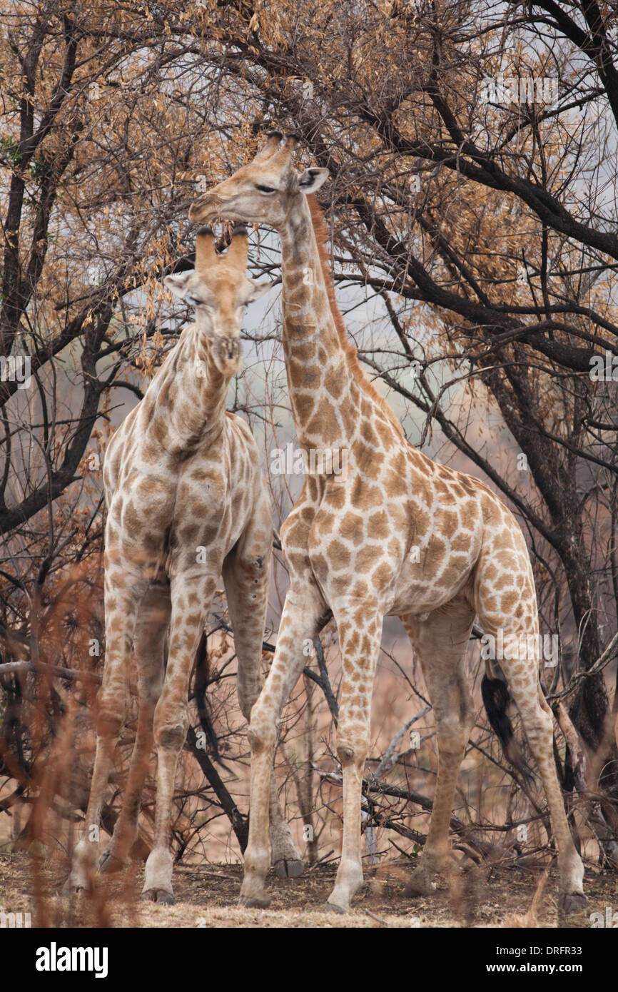
[[[236, 144], [269, 113], [330, 169], [336, 278], [380, 296], [392, 324], [362, 357], [523, 516], [538, 571], [555, 576], [556, 628], [570, 623], [574, 666], [589, 670], [618, 591], [616, 12], [420, 0], [268, 16], [232, 3], [209, 18], [204, 62], [243, 86]], [[429, 374], [444, 359], [497, 404], [531, 491], [444, 409], [448, 383]], [[414, 386], [399, 374], [410, 364]], [[578, 682], [571, 715], [594, 750], [608, 705], [602, 674]]]

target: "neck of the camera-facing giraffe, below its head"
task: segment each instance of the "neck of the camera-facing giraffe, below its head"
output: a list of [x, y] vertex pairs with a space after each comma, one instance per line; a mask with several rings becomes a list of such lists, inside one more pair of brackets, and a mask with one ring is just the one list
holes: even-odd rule
[[205, 335], [186, 327], [153, 382], [149, 427], [170, 453], [189, 453], [221, 434], [229, 378], [217, 369]]

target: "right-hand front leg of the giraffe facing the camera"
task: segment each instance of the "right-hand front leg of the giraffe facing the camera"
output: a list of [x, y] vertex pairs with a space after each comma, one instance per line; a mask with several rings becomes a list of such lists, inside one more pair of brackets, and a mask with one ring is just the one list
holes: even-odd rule
[[168, 667], [154, 718], [157, 747], [154, 843], [146, 861], [142, 890], [142, 899], [168, 906], [175, 901], [170, 833], [176, 772], [188, 727], [188, 682], [215, 588], [216, 578], [213, 574], [204, 576], [202, 571], [197, 574], [193, 570], [186, 571], [172, 580]]

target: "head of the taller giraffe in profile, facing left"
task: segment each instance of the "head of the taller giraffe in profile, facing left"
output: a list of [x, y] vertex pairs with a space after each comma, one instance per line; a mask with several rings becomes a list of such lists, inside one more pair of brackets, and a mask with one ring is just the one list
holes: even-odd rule
[[283, 139], [281, 131], [269, 131], [248, 166], [191, 203], [189, 218], [208, 222], [224, 214], [281, 230], [300, 197], [315, 192], [328, 178], [327, 169], [295, 169], [292, 152], [297, 139], [290, 135], [282, 145]]

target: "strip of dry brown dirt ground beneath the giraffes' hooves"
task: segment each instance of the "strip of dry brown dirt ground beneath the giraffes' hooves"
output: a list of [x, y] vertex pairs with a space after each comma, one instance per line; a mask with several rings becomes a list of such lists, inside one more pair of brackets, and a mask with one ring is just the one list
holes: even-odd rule
[[[78, 898], [59, 895], [65, 866], [37, 866], [24, 853], [0, 855], [0, 909], [30, 913], [33, 927], [133, 928], [433, 928], [522, 927], [543, 876], [542, 868], [494, 868], [464, 875], [450, 883], [437, 880], [430, 899], [403, 895], [412, 870], [408, 861], [391, 861], [365, 869], [365, 884], [345, 916], [324, 913], [336, 864], [316, 865], [296, 880], [268, 878], [272, 903], [268, 910], [238, 906], [241, 865], [208, 864], [175, 868], [175, 906], [155, 906], [139, 899], [143, 865], [132, 864], [111, 878], [97, 877], [93, 892]], [[558, 921], [557, 874], [553, 868], [538, 901], [536, 926], [589, 928], [592, 912], [618, 901], [616, 876], [586, 872], [585, 912]]]

